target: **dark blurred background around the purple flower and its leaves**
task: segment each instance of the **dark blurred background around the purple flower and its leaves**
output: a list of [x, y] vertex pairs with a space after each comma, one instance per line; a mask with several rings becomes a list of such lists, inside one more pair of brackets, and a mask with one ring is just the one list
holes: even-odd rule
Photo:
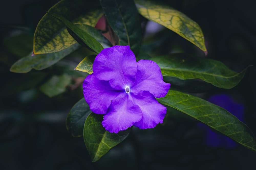
[[[0, 3], [0, 169], [255, 169], [255, 153], [240, 145], [232, 149], [203, 145], [204, 134], [197, 128], [197, 121], [177, 116], [171, 109], [164, 124], [147, 130], [133, 128], [127, 139], [98, 162], [91, 163], [82, 137], [72, 137], [65, 125], [69, 110], [83, 97], [81, 87], [49, 98], [38, 90], [40, 81], [22, 86], [28, 80], [33, 84], [34, 77], [30, 79], [30, 74], [9, 72], [10, 66], [22, 56], [10, 52], [13, 50], [6, 45], [6, 38], [19, 30], [17, 26], [21, 30], [28, 28], [26, 32], [31, 38], [24, 40], [28, 47], [22, 48], [32, 50], [37, 23], [56, 2], [4, 0]], [[222, 61], [237, 72], [256, 65], [255, 1], [165, 3], [200, 25], [207, 58]], [[159, 34], [165, 38], [155, 44], [154, 54], [178, 49], [204, 57], [202, 51], [177, 34], [167, 29]], [[67, 60], [72, 60], [72, 56]], [[57, 66], [52, 66], [42, 72], [58, 71]], [[233, 89], [211, 88], [196, 95], [204, 99], [219, 93], [230, 95], [244, 106], [244, 121], [256, 134], [255, 73], [256, 69], [250, 67]]]

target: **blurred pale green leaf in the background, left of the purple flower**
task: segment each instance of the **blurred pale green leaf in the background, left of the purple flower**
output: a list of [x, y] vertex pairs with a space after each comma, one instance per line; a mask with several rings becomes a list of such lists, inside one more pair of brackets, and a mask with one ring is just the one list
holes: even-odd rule
[[61, 76], [53, 75], [47, 82], [40, 86], [40, 90], [49, 97], [57, 96], [66, 91], [71, 83], [71, 77], [67, 74]]

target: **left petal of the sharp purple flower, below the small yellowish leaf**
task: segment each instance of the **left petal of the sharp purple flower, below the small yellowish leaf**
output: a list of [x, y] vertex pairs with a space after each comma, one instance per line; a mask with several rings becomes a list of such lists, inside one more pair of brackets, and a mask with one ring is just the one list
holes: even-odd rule
[[111, 104], [120, 91], [113, 89], [108, 81], [98, 80], [95, 74], [88, 75], [83, 81], [84, 99], [90, 110], [96, 114], [106, 114]]

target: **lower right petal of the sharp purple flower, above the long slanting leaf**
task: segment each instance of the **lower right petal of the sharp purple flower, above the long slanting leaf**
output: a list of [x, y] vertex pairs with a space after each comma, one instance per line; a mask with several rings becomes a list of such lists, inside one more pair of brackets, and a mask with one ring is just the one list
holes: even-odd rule
[[132, 95], [134, 103], [142, 111], [142, 119], [134, 123], [140, 129], [153, 128], [158, 123], [163, 123], [166, 114], [166, 107], [158, 103], [155, 97], [148, 91], [142, 91], [138, 95]]

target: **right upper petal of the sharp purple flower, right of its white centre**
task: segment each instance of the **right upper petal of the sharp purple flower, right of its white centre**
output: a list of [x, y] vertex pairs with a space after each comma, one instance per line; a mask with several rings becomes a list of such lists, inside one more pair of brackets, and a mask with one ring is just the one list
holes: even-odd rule
[[137, 66], [136, 81], [132, 85], [134, 94], [147, 90], [154, 97], [164, 97], [170, 88], [170, 84], [163, 81], [159, 66], [151, 60], [140, 60], [137, 62]]

